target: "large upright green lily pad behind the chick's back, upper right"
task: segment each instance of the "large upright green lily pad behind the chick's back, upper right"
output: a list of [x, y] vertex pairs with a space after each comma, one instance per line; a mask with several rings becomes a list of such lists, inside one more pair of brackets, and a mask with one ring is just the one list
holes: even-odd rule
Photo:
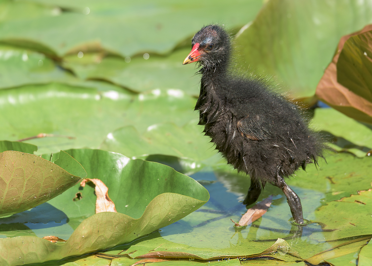
[[236, 38], [240, 65], [275, 75], [291, 97], [312, 97], [339, 39], [371, 18], [368, 2], [268, 1]]

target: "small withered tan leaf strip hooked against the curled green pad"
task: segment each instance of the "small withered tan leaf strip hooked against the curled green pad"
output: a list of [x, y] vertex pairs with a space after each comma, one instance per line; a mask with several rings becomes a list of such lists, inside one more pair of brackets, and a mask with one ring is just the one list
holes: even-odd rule
[[93, 182], [93, 184], [96, 185], [96, 187], [94, 187], [94, 191], [96, 192], [97, 196], [96, 213], [117, 212], [115, 209], [115, 203], [113, 203], [109, 197], [109, 189], [106, 187], [105, 183], [97, 178], [85, 178], [80, 182], [80, 186], [85, 187], [85, 184], [88, 182]]

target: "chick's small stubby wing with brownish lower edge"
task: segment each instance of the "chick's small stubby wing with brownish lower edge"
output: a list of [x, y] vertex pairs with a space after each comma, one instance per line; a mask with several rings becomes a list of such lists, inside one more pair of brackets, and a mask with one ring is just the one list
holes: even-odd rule
[[243, 137], [250, 140], [270, 139], [265, 121], [265, 115], [247, 115], [238, 121], [237, 129]]

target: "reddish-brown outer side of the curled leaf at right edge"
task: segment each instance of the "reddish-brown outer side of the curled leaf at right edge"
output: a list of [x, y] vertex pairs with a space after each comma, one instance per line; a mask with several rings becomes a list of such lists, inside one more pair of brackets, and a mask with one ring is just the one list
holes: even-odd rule
[[315, 95], [334, 109], [355, 118], [359, 121], [372, 123], [372, 103], [355, 94], [337, 82], [337, 61], [342, 48], [352, 36], [371, 31], [372, 25], [365, 26], [361, 31], [343, 36], [337, 45], [337, 51], [332, 62], [324, 71], [324, 75], [318, 83]]

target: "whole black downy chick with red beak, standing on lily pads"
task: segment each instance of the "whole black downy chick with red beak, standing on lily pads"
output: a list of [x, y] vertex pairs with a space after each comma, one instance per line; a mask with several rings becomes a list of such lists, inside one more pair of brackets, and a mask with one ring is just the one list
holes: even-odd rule
[[183, 64], [201, 67], [199, 125], [228, 164], [250, 175], [243, 204], [256, 202], [268, 182], [284, 192], [294, 222], [304, 224], [301, 200], [283, 177], [316, 164], [323, 144], [295, 104], [260, 79], [234, 75], [230, 60], [231, 37], [221, 26], [205, 26], [192, 38]]

